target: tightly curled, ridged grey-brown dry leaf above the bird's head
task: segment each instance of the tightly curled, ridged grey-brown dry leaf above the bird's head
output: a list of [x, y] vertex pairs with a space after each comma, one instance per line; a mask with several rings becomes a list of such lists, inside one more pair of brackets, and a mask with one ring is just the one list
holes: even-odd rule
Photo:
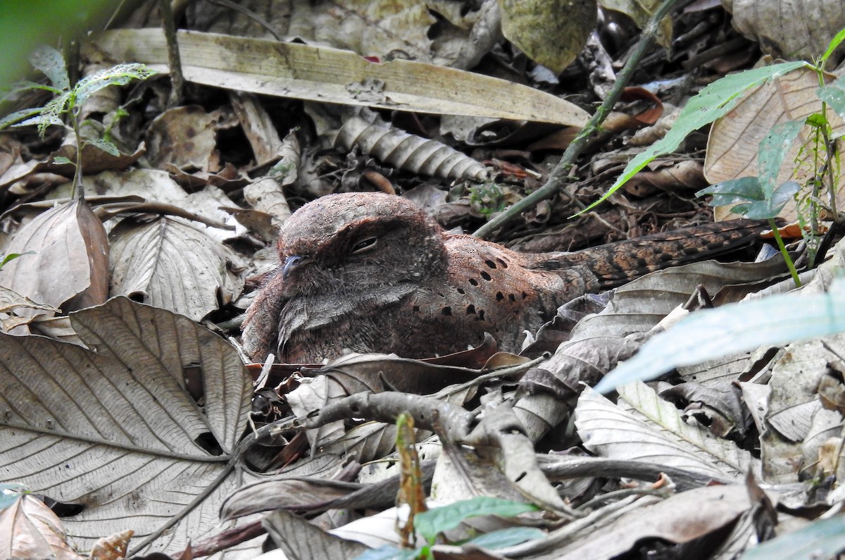
[[488, 177], [486, 167], [455, 148], [400, 129], [369, 124], [360, 117], [349, 118], [343, 124], [335, 145], [346, 150], [357, 147], [383, 163], [412, 173], [478, 181]]

